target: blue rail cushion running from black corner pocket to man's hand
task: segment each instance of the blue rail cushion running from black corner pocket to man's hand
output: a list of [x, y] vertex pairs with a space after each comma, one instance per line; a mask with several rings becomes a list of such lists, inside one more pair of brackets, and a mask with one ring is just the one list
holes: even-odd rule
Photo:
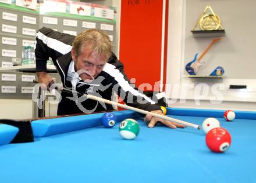
[[[121, 122], [126, 118], [138, 118], [134, 111], [115, 111], [117, 121]], [[52, 136], [55, 134], [66, 133], [69, 131], [87, 129], [90, 127], [101, 126], [103, 113], [91, 115], [68, 116], [63, 118], [39, 119], [31, 124], [34, 137]]]

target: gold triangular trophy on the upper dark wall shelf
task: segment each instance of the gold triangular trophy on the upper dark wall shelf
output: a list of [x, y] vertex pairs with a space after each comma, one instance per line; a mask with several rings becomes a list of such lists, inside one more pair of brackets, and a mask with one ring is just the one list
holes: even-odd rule
[[197, 20], [197, 24], [195, 24], [193, 31], [195, 31], [195, 28], [197, 28], [198, 25], [203, 31], [223, 30], [221, 19], [214, 13], [209, 5], [205, 7], [204, 12], [202, 12], [200, 18]]

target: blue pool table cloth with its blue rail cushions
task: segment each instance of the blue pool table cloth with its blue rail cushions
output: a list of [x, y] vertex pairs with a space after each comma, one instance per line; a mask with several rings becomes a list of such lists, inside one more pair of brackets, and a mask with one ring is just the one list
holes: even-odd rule
[[209, 151], [202, 130], [150, 129], [133, 111], [114, 114], [140, 123], [134, 140], [120, 137], [119, 123], [101, 126], [102, 114], [34, 120], [34, 142], [0, 146], [0, 182], [256, 182], [256, 112], [236, 111], [233, 122], [223, 112], [167, 109], [197, 125], [217, 118], [232, 136], [224, 153]]

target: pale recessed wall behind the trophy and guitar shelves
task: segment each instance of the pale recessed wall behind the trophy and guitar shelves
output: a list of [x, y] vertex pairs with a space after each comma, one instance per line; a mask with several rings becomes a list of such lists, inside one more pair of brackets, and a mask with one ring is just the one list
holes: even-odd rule
[[[227, 79], [256, 79], [255, 47], [256, 35], [254, 23], [256, 1], [254, 0], [223, 0], [202, 1], [187, 0], [184, 9], [185, 45], [184, 64], [193, 60], [196, 52], [201, 54], [209, 45], [212, 38], [194, 38], [191, 30], [202, 14], [205, 6], [210, 5], [214, 13], [221, 19], [225, 37], [216, 42], [205, 54], [198, 75], [209, 75], [218, 65], [225, 69]], [[210, 11], [208, 10], [208, 13]], [[198, 26], [198, 29], [199, 26]], [[187, 74], [183, 68], [184, 74]]]

